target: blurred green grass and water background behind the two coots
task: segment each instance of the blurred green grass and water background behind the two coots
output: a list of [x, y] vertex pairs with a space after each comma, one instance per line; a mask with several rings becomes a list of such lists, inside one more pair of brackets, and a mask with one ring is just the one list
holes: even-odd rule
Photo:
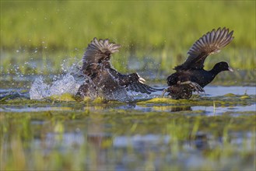
[[60, 72], [97, 37], [122, 45], [111, 59], [119, 71], [170, 74], [195, 40], [226, 26], [235, 39], [206, 69], [228, 61], [255, 71], [255, 16], [255, 1], [1, 1], [1, 70]]

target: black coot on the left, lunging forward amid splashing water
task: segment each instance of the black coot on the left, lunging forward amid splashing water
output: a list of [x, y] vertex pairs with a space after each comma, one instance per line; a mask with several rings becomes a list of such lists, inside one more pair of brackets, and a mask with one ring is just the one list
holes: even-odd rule
[[144, 84], [137, 73], [122, 75], [110, 65], [111, 54], [118, 51], [120, 44], [110, 43], [109, 40], [94, 38], [88, 45], [82, 58], [82, 71], [86, 82], [80, 86], [79, 96], [101, 96], [104, 99], [116, 99], [129, 102], [128, 90], [150, 94], [163, 89], [154, 89]]

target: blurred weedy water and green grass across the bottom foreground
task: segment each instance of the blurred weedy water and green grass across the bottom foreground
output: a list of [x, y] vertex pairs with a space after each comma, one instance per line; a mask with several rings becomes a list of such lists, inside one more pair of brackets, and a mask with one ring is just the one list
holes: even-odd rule
[[[153, 117], [148, 123], [144, 117], [126, 115], [96, 114], [79, 120], [28, 117], [22, 122], [3, 116], [2, 169], [254, 169], [255, 132], [250, 129], [226, 134], [225, 127], [203, 126], [205, 120]], [[16, 165], [9, 166], [12, 160]]]

